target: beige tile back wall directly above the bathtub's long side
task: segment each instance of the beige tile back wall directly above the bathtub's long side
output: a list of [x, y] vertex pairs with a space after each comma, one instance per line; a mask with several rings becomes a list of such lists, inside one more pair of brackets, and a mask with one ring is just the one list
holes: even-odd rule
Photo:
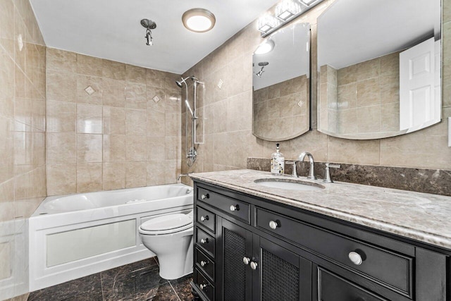
[[47, 49], [48, 195], [174, 183], [180, 173], [178, 78]]

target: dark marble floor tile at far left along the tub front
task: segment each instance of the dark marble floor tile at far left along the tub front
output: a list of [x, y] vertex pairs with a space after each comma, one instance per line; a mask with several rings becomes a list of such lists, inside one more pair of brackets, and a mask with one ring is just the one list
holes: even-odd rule
[[101, 292], [100, 274], [93, 274], [72, 281], [36, 290], [28, 296], [29, 301], [61, 301], [83, 293]]

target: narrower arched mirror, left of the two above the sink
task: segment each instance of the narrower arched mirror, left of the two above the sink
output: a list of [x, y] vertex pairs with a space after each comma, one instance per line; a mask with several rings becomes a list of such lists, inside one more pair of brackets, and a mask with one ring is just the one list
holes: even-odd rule
[[253, 54], [252, 133], [289, 140], [310, 128], [310, 26], [295, 23], [268, 37]]

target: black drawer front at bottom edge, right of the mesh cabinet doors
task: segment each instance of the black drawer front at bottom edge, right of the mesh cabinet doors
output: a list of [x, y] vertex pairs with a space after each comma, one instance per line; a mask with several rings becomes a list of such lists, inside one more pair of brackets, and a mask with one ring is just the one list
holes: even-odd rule
[[321, 268], [318, 269], [319, 275], [319, 296], [321, 301], [387, 301], [383, 297], [371, 293], [369, 290], [361, 288], [359, 285], [347, 281], [335, 274], [332, 274]]

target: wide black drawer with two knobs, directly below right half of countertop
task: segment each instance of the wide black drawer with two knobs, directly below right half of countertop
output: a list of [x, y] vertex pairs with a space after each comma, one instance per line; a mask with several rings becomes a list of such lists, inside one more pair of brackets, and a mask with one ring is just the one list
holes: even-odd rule
[[[412, 297], [412, 258], [257, 208], [257, 227], [382, 281]], [[359, 257], [362, 262], [357, 262]]]

